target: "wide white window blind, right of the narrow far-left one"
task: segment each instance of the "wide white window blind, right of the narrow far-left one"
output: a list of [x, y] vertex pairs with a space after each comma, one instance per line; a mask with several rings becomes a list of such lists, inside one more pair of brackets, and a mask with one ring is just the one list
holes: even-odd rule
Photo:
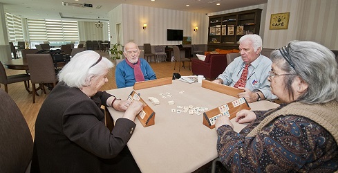
[[27, 19], [30, 42], [79, 41], [77, 21], [52, 19]]

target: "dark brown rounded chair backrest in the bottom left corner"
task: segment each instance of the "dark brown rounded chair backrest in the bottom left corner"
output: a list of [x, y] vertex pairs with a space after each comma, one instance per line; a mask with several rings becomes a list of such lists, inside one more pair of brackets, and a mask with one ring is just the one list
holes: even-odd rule
[[32, 160], [32, 135], [17, 104], [2, 89], [0, 102], [0, 172], [26, 172]]

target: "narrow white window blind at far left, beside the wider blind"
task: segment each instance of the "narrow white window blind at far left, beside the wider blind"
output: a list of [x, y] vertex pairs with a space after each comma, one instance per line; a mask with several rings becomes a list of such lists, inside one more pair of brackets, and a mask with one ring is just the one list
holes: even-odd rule
[[7, 34], [9, 42], [24, 41], [21, 18], [6, 12]]

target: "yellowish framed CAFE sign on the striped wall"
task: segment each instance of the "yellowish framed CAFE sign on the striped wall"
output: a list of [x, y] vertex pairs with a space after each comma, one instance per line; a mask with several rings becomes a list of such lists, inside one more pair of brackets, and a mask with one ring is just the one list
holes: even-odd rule
[[271, 14], [270, 30], [288, 29], [290, 12]]

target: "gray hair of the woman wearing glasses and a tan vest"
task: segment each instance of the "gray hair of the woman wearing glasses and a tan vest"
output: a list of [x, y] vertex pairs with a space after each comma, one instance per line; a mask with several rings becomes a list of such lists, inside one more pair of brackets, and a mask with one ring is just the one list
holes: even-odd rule
[[328, 48], [315, 42], [289, 42], [285, 50], [290, 55], [290, 63], [285, 60], [281, 51], [271, 53], [272, 62], [281, 70], [292, 75], [285, 75], [285, 91], [289, 97], [293, 97], [291, 84], [296, 76], [299, 76], [308, 84], [308, 89], [299, 96], [299, 102], [317, 104], [338, 101], [338, 77], [335, 54]]

